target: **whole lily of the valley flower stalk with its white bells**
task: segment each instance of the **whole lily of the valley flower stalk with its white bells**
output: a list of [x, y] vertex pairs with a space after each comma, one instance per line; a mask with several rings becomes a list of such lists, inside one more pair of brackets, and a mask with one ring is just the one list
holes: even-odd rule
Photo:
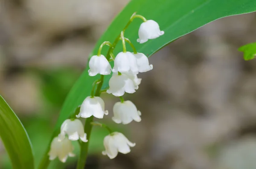
[[[148, 63], [148, 58], [145, 54], [138, 53], [131, 41], [124, 35], [125, 29], [127, 29], [134, 18], [143, 20], [138, 30], [139, 38], [137, 42], [146, 43], [148, 40], [155, 39], [164, 34], [163, 31], [160, 31], [156, 21], [146, 20], [145, 17], [141, 15], [133, 14], [128, 24], [113, 43], [108, 41], [102, 43], [99, 47], [98, 54], [90, 58], [90, 69], [88, 71], [90, 76], [101, 74], [101, 78], [93, 83], [91, 95], [84, 99], [80, 111], [75, 113], [70, 119], [65, 120], [61, 125], [59, 135], [52, 140], [49, 150], [49, 160], [58, 158], [64, 163], [68, 157], [74, 156], [74, 148], [71, 142], [79, 141], [81, 154], [79, 155], [77, 169], [83, 169], [86, 163], [88, 141], [90, 141], [90, 132], [93, 125], [105, 127], [110, 132], [109, 135], [102, 140], [102, 144], [105, 146], [105, 150], [102, 150], [102, 154], [107, 155], [110, 159], [115, 158], [118, 152], [122, 154], [129, 153], [131, 151], [130, 147], [135, 146], [135, 143], [129, 141], [122, 133], [112, 132], [105, 124], [93, 121], [93, 117], [102, 119], [104, 115], [108, 115], [108, 110], [105, 110], [105, 103], [99, 96], [101, 92], [103, 92], [101, 88], [104, 75], [111, 74], [111, 71], [113, 73], [109, 80], [109, 89], [104, 92], [120, 98], [120, 102], [113, 105], [112, 120], [115, 123], [122, 124], [131, 123], [133, 120], [136, 122], [141, 121], [141, 112], [134, 103], [130, 100], [124, 100], [122, 97], [125, 92], [134, 93], [139, 88], [141, 79], [137, 77], [137, 74], [153, 69], [153, 66]], [[123, 51], [120, 51], [115, 57], [113, 50], [119, 40], [122, 41]], [[131, 45], [133, 51], [126, 51], [125, 42]], [[106, 57], [101, 54], [104, 45], [109, 46]], [[111, 68], [111, 61], [114, 62], [113, 68]], [[84, 126], [78, 118], [86, 118], [86, 125]], [[90, 122], [89, 125], [87, 122]]]

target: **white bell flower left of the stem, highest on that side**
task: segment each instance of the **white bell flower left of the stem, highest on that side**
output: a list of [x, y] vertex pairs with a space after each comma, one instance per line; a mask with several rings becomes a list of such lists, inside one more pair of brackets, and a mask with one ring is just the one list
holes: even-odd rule
[[111, 66], [102, 54], [100, 56], [92, 56], [89, 61], [89, 67], [88, 73], [90, 76], [95, 76], [98, 73], [102, 75], [111, 74]]

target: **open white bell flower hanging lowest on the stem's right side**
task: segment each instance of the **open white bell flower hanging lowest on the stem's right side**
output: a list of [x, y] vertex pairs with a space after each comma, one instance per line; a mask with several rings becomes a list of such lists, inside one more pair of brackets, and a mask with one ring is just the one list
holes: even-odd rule
[[134, 147], [135, 143], [131, 143], [122, 133], [113, 132], [104, 138], [105, 151], [103, 155], [108, 155], [110, 159], [117, 156], [118, 152], [127, 154], [131, 152], [130, 147]]

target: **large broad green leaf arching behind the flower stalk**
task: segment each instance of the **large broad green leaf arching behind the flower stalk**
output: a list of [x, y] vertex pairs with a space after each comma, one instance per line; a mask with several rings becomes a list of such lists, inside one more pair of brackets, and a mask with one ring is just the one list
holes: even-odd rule
[[[142, 23], [142, 20], [138, 18], [125, 31], [125, 37], [134, 43], [137, 51], [149, 57], [166, 44], [207, 23], [222, 17], [253, 11], [256, 11], [255, 0], [131, 0], [99, 39], [91, 55], [97, 54], [97, 50], [102, 42], [113, 42], [134, 12], [143, 15], [148, 20], [155, 20], [159, 23], [160, 29], [165, 32], [163, 36], [157, 39], [149, 40], [143, 44], [137, 43], [138, 29], [140, 23]], [[128, 50], [130, 49], [128, 48]], [[105, 46], [102, 54], [105, 55], [107, 50]], [[122, 46], [119, 42], [114, 54], [121, 51]], [[85, 97], [90, 95], [93, 81], [99, 79], [99, 76], [90, 77], [88, 69], [87, 66], [67, 96], [55, 126], [56, 132], [54, 135], [57, 135], [61, 123], [74, 112]], [[103, 89], [108, 87], [110, 77], [111, 75], [105, 76]]]

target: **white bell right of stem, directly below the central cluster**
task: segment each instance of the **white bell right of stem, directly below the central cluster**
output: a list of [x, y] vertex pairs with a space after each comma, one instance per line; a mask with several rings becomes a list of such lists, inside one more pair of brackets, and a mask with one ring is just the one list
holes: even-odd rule
[[140, 122], [141, 112], [137, 110], [134, 103], [129, 100], [124, 101], [123, 103], [117, 102], [113, 106], [114, 117], [112, 120], [116, 123], [128, 124], [132, 120]]

